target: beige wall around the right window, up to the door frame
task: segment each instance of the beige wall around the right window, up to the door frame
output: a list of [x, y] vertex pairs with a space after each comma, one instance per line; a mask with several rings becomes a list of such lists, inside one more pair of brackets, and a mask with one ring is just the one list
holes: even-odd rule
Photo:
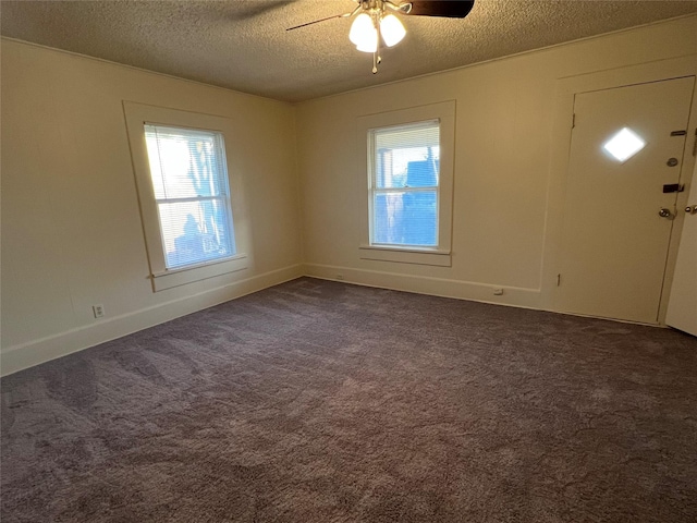
[[[636, 64], [643, 78], [670, 77], [670, 59], [686, 56], [681, 66], [695, 74], [695, 16], [299, 105], [306, 273], [553, 308], [549, 262], [561, 216], [552, 196], [565, 170], [552, 159], [560, 144], [567, 151], [571, 129], [560, 89], [603, 71], [609, 86], [632, 83]], [[456, 100], [452, 267], [360, 259], [367, 193], [357, 117], [444, 100]], [[564, 129], [560, 111], [568, 111]]]

